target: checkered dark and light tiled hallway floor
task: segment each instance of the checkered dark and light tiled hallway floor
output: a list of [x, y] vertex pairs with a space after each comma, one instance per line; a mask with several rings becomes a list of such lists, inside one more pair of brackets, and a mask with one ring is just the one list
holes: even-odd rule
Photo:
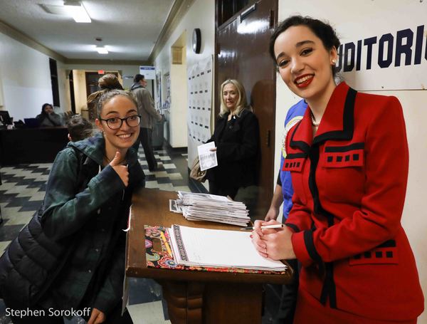
[[[139, 149], [139, 162], [146, 175], [146, 187], [164, 190], [206, 192], [201, 184], [188, 177], [186, 150], [157, 150], [155, 157], [159, 169], [149, 172], [142, 147]], [[16, 237], [34, 212], [41, 206], [46, 190], [46, 181], [51, 169], [46, 164], [20, 164], [1, 167], [0, 207], [4, 219], [0, 225], [0, 254], [9, 242]], [[266, 293], [265, 300], [270, 297]], [[272, 302], [273, 303], [273, 302]], [[130, 278], [130, 298], [128, 306], [135, 324], [170, 323], [167, 306], [162, 299], [162, 288], [151, 279]], [[0, 299], [0, 324], [11, 323], [6, 316], [5, 306]], [[68, 324], [84, 323], [73, 318]], [[263, 324], [271, 323], [270, 311], [266, 308]]]

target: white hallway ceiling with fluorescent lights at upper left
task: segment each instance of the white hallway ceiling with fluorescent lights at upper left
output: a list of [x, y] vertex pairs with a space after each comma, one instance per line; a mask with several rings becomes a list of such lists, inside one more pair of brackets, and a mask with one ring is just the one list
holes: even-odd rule
[[[80, 2], [91, 23], [48, 12], [62, 0], [0, 0], [0, 21], [70, 60], [147, 61], [175, 0]], [[99, 54], [95, 46], [109, 53]]]

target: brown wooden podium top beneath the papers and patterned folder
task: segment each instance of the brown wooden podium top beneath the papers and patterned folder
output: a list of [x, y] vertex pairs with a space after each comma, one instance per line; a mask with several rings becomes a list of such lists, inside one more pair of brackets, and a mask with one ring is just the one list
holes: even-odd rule
[[292, 269], [285, 275], [258, 273], [223, 273], [148, 268], [145, 260], [144, 225], [170, 227], [172, 224], [207, 229], [236, 229], [238, 226], [211, 221], [187, 221], [181, 214], [169, 211], [169, 199], [177, 199], [176, 192], [159, 189], [140, 189], [132, 198], [130, 231], [127, 234], [126, 274], [130, 277], [168, 279], [176, 281], [228, 281], [234, 283], [287, 284]]

